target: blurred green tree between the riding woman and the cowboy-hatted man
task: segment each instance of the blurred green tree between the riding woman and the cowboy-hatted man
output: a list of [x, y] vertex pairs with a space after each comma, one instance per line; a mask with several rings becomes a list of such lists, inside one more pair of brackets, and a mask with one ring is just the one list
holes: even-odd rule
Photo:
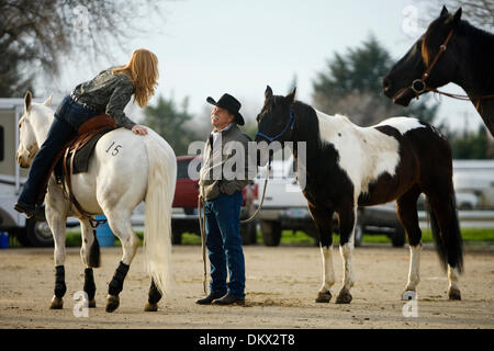
[[144, 125], [149, 126], [167, 140], [177, 156], [187, 155], [189, 144], [197, 140], [197, 136], [187, 127], [187, 122], [193, 118], [188, 112], [188, 98], [183, 99], [181, 107], [177, 107], [173, 100], [158, 97], [156, 105], [144, 109]]

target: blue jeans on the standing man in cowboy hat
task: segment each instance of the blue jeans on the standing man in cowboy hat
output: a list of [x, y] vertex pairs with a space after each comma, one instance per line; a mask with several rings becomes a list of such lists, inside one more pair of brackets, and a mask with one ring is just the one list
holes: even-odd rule
[[[210, 292], [245, 298], [245, 261], [240, 237], [242, 191], [221, 193], [205, 202], [206, 247], [211, 263]], [[226, 284], [226, 268], [229, 282]]]

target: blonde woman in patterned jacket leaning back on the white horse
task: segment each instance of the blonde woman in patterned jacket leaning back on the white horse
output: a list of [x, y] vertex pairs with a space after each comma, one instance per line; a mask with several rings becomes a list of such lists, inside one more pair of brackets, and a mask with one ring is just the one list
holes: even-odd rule
[[64, 144], [89, 118], [106, 113], [119, 126], [146, 135], [146, 128], [132, 122], [124, 109], [133, 94], [134, 100], [144, 107], [155, 92], [157, 78], [157, 57], [149, 50], [138, 49], [132, 54], [126, 66], [103, 70], [65, 97], [55, 112], [48, 136], [31, 165], [27, 181], [14, 208], [25, 213], [27, 217], [35, 214], [36, 196], [52, 161]]

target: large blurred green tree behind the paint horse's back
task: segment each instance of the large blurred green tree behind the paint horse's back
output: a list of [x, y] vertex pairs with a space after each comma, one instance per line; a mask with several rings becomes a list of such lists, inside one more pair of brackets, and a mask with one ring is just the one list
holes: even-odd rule
[[313, 81], [314, 105], [328, 114], [345, 114], [361, 126], [396, 115], [415, 116], [431, 123], [437, 104], [429, 106], [428, 97], [422, 97], [418, 103], [408, 107], [395, 105], [384, 97], [381, 82], [393, 64], [388, 50], [373, 35], [361, 46], [349, 48], [345, 55], [336, 53]]

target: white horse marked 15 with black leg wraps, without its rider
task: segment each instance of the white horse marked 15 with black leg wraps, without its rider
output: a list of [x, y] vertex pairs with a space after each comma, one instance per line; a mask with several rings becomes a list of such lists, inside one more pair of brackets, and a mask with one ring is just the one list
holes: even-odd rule
[[[52, 97], [44, 103], [24, 98], [24, 114], [19, 122], [20, 143], [18, 162], [29, 168], [40, 146], [46, 139], [54, 118], [49, 107]], [[110, 228], [122, 242], [123, 256], [109, 285], [106, 312], [120, 305], [119, 293], [139, 246], [139, 238], [131, 225], [131, 214], [146, 202], [145, 245], [147, 271], [151, 278], [149, 298], [145, 310], [157, 310], [161, 295], [168, 296], [172, 283], [171, 270], [171, 204], [177, 179], [177, 159], [170, 145], [148, 128], [148, 135], [135, 135], [117, 128], [103, 135], [91, 156], [88, 172], [72, 174], [72, 192], [81, 207], [91, 215], [104, 214]], [[45, 197], [46, 219], [55, 239], [56, 283], [50, 308], [63, 308], [65, 285], [66, 220], [80, 220], [82, 247], [80, 256], [86, 265], [85, 292], [88, 304], [96, 307], [96, 285], [92, 268], [99, 265], [99, 246], [89, 219], [78, 215], [61, 185], [50, 177]]]

